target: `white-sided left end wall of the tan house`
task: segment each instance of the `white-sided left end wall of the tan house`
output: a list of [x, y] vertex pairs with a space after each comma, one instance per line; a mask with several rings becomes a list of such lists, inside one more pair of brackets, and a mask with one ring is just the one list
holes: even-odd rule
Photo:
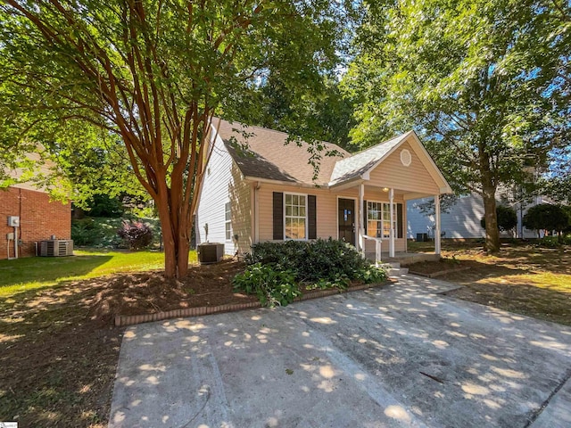
[[[217, 138], [211, 159], [206, 168], [200, 202], [196, 216], [196, 244], [208, 239], [211, 243], [224, 243], [224, 252], [234, 255], [236, 244], [226, 239], [225, 205], [231, 203], [232, 236], [238, 236], [240, 251], [251, 244], [250, 185], [244, 182], [239, 169], [226, 146]], [[208, 236], [204, 225], [208, 224]], [[247, 247], [247, 248], [243, 248]]]

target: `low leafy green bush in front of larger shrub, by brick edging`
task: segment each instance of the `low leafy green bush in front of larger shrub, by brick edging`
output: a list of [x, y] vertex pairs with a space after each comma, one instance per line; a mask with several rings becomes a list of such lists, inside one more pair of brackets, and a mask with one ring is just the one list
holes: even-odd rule
[[232, 279], [234, 290], [255, 294], [262, 306], [287, 306], [302, 294], [295, 282], [294, 272], [278, 270], [272, 265], [255, 263], [248, 266], [243, 274]]

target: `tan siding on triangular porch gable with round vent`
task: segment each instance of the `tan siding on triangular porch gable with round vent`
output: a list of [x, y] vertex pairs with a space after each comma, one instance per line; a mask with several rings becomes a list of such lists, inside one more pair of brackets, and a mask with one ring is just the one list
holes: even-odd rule
[[[401, 150], [408, 149], [412, 157], [410, 166], [401, 163]], [[428, 194], [440, 193], [439, 186], [428, 173], [409, 143], [403, 143], [370, 173], [370, 184], [380, 187], [393, 187], [406, 192]]]

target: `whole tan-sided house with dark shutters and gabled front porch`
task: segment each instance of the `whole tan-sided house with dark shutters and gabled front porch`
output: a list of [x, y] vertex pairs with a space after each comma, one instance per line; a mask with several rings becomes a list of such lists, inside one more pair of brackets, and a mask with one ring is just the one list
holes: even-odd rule
[[267, 128], [213, 120], [196, 212], [198, 244], [225, 243], [225, 252], [235, 254], [253, 243], [332, 237], [375, 254], [368, 236], [394, 255], [407, 250], [405, 203], [451, 192], [412, 131], [353, 155], [324, 144], [339, 155], [323, 152], [315, 179], [308, 144], [286, 140]]

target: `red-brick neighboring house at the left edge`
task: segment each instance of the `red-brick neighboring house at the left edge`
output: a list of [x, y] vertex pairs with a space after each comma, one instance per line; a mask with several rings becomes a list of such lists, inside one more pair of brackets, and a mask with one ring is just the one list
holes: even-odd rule
[[[28, 158], [39, 162], [37, 153]], [[39, 172], [47, 172], [46, 165]], [[6, 171], [13, 178], [21, 176], [18, 170]], [[19, 226], [14, 227], [17, 222]], [[14, 237], [18, 234], [18, 249]], [[46, 189], [35, 183], [19, 183], [0, 189], [0, 236], [4, 245], [0, 247], [0, 259], [33, 256], [37, 243], [52, 239], [68, 240], [71, 237], [71, 204], [52, 201]], [[8, 239], [8, 236], [11, 239]]]

